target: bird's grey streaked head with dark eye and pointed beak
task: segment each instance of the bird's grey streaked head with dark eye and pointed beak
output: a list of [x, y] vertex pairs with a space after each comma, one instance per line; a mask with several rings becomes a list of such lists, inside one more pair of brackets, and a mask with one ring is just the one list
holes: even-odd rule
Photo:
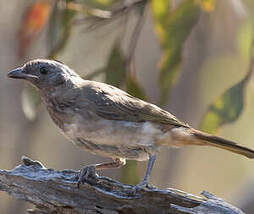
[[24, 79], [39, 89], [51, 89], [68, 84], [72, 78], [79, 77], [63, 63], [36, 59], [8, 73], [9, 78]]

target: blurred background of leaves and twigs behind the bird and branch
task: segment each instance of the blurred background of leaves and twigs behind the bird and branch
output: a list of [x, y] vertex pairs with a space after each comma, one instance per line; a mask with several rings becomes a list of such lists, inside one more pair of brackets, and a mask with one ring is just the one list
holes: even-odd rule
[[[105, 161], [69, 143], [34, 88], [9, 70], [34, 58], [153, 102], [254, 148], [253, 0], [0, 0], [0, 168], [22, 155], [55, 169]], [[101, 174], [136, 184], [147, 163]], [[254, 162], [215, 148], [163, 148], [151, 183], [202, 190], [254, 213]], [[32, 205], [0, 192], [1, 213]]]

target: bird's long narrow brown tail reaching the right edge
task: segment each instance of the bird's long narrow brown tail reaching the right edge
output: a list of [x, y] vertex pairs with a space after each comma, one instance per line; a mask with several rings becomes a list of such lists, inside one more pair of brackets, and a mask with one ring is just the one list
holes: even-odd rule
[[199, 131], [195, 131], [193, 135], [199, 140], [205, 141], [206, 144], [210, 146], [226, 149], [228, 151], [231, 151], [240, 155], [244, 155], [247, 158], [254, 158], [254, 150], [244, 146], [240, 146], [233, 141], [226, 140], [224, 138], [213, 136], [213, 135], [208, 135]]

